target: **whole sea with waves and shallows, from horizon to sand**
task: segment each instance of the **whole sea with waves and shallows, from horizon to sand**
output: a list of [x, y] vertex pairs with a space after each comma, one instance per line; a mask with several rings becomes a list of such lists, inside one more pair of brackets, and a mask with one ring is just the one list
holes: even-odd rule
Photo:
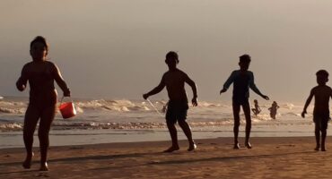
[[[152, 100], [152, 103], [162, 113], [167, 100]], [[28, 104], [28, 98], [0, 99], [0, 148], [23, 147], [22, 126]], [[272, 101], [259, 101], [262, 112], [258, 116], [252, 115], [251, 136], [313, 136], [312, 106], [303, 119], [303, 104], [279, 102], [276, 119], [272, 119], [268, 111], [271, 104]], [[50, 132], [50, 145], [170, 140], [164, 117], [147, 101], [74, 98], [74, 105], [77, 115], [73, 118], [63, 119], [57, 112]], [[232, 103], [199, 101], [198, 107], [189, 108], [188, 123], [192, 127], [194, 139], [232, 137]], [[242, 111], [240, 124], [241, 137], [245, 128]], [[37, 131], [34, 146], [39, 145]], [[179, 139], [186, 139], [183, 132], [178, 133]]]

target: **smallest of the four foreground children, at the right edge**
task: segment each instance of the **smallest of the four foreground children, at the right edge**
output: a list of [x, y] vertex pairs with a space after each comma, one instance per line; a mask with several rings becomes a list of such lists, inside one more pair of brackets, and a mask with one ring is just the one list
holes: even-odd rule
[[[310, 91], [309, 98], [307, 99], [301, 116], [304, 118], [307, 114], [307, 107], [309, 106], [311, 99], [315, 97], [315, 106], [313, 108], [313, 122], [315, 123], [315, 137], [316, 148], [315, 150], [326, 151], [325, 139], [327, 137], [328, 119], [329, 119], [329, 98], [332, 98], [332, 89], [326, 85], [328, 82], [328, 72], [325, 70], [319, 70], [316, 72], [318, 86], [314, 87]], [[321, 145], [319, 145], [321, 133]]]

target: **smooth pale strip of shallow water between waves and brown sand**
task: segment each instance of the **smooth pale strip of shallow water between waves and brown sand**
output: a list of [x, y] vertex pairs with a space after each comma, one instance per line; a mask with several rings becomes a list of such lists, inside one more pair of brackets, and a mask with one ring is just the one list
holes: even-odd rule
[[[232, 137], [233, 126], [192, 127], [194, 140]], [[314, 126], [307, 124], [296, 125], [258, 125], [252, 126], [251, 137], [311, 137], [314, 136]], [[328, 134], [332, 129], [328, 129]], [[245, 135], [245, 125], [240, 126], [240, 137]], [[178, 127], [179, 140], [187, 139]], [[0, 132], [0, 149], [22, 148], [22, 132]], [[87, 130], [51, 130], [49, 134], [50, 146], [88, 145], [100, 143], [138, 142], [138, 141], [170, 141], [170, 133], [166, 128], [161, 129], [87, 129]], [[34, 135], [34, 146], [39, 146], [38, 132]]]

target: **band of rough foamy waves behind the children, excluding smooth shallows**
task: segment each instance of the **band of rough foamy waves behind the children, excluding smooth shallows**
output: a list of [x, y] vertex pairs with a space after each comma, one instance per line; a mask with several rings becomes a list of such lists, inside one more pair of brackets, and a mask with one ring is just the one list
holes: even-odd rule
[[[167, 103], [165, 100], [153, 100], [153, 106], [159, 111]], [[270, 103], [259, 104], [262, 112], [252, 116], [252, 124], [310, 124], [312, 107], [308, 109], [306, 119], [301, 118], [302, 106], [293, 103], [278, 103], [276, 119], [269, 115]], [[71, 119], [62, 119], [57, 114], [54, 127], [63, 129], [155, 129], [165, 128], [165, 119], [158, 115], [144, 100], [107, 100], [107, 99], [75, 99], [77, 115]], [[0, 101], [1, 130], [20, 130], [23, 114], [28, 106], [27, 98], [4, 98]], [[245, 123], [243, 112], [240, 113], [241, 124]], [[198, 107], [188, 110], [188, 122], [193, 127], [222, 126], [233, 123], [232, 103], [199, 101]], [[5, 124], [5, 125], [4, 125]]]

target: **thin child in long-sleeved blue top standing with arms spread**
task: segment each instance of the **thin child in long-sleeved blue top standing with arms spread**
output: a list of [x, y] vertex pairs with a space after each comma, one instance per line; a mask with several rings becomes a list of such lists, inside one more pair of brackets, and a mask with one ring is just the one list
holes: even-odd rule
[[240, 70], [233, 71], [228, 80], [223, 84], [223, 90], [220, 90], [220, 94], [228, 90], [230, 85], [233, 83], [233, 96], [232, 96], [232, 108], [234, 115], [234, 148], [240, 149], [238, 142], [239, 126], [240, 126], [240, 106], [243, 108], [244, 115], [246, 117], [246, 141], [245, 146], [251, 149], [249, 143], [249, 136], [251, 130], [251, 116], [250, 116], [250, 105], [249, 105], [249, 88], [256, 92], [262, 98], [268, 100], [266, 95], [263, 95], [255, 85], [253, 72], [248, 71], [250, 64], [249, 55], [240, 56]]

